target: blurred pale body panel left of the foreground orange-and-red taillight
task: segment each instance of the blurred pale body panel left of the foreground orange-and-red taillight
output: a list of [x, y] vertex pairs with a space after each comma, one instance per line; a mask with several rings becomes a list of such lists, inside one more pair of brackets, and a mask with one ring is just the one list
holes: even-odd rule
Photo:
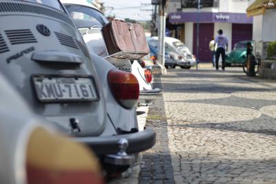
[[29, 132], [37, 127], [21, 96], [0, 75], [0, 183], [26, 184], [25, 154]]

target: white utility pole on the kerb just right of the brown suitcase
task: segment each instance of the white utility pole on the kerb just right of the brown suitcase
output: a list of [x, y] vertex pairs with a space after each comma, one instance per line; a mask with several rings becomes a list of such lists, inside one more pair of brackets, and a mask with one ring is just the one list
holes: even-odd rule
[[159, 2], [159, 27], [158, 27], [158, 61], [161, 64], [161, 73], [166, 74], [165, 68], [165, 36], [166, 36], [166, 0]]

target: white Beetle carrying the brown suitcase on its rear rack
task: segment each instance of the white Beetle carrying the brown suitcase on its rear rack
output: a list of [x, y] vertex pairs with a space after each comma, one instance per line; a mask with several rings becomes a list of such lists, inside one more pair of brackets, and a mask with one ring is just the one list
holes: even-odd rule
[[74, 19], [79, 32], [83, 36], [84, 41], [88, 45], [90, 53], [95, 53], [112, 63], [121, 71], [131, 72], [139, 82], [139, 98], [143, 98], [148, 93], [159, 94], [160, 89], [152, 89], [152, 75], [150, 71], [142, 68], [139, 61], [129, 59], [119, 59], [110, 57], [106, 44], [101, 34], [101, 28], [108, 23], [104, 15], [92, 4], [86, 1], [61, 1], [67, 8], [71, 17]]

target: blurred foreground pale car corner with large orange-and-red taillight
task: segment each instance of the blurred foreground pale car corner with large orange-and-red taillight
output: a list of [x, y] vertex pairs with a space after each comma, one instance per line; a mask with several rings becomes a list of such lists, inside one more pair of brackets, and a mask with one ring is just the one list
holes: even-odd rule
[[87, 147], [35, 116], [1, 73], [0, 86], [0, 183], [103, 183], [99, 162]]

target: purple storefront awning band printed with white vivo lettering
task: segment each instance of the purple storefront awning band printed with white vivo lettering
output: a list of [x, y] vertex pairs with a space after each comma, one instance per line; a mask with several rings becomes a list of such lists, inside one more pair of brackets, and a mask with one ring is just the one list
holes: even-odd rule
[[[170, 23], [197, 22], [197, 12], [173, 12], [169, 15]], [[200, 12], [199, 22], [228, 22], [237, 24], [252, 24], [253, 17], [246, 13], [233, 12]]]

